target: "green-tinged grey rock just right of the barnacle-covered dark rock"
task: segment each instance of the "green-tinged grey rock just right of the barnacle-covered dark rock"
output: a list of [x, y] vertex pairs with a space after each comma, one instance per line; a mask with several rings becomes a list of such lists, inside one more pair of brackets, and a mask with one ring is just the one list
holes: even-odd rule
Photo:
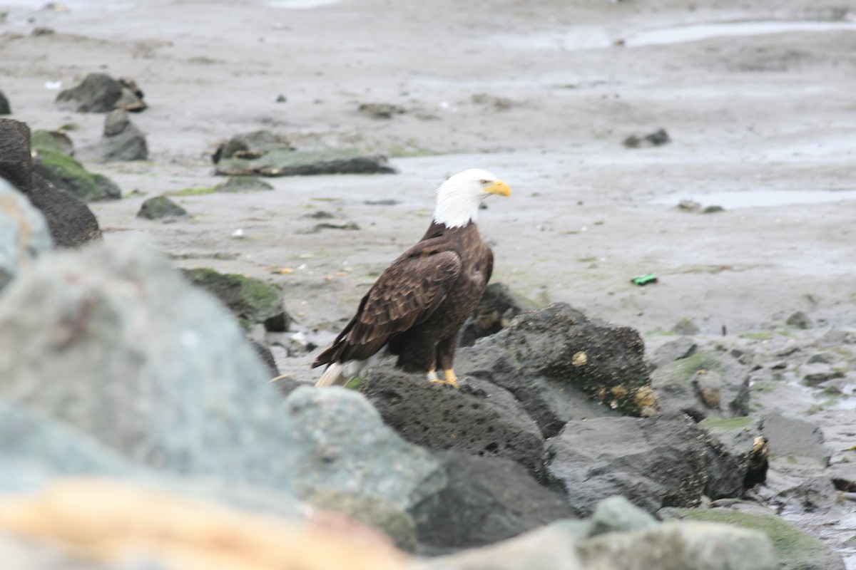
[[695, 420], [749, 414], [749, 372], [733, 356], [700, 352], [657, 368], [651, 385], [663, 410]]

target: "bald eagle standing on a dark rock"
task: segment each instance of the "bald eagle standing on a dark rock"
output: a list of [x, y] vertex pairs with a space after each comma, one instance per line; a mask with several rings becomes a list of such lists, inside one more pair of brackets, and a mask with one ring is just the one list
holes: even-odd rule
[[347, 384], [381, 354], [397, 356], [405, 372], [458, 386], [452, 369], [458, 333], [493, 270], [493, 252], [476, 228], [479, 206], [492, 194], [508, 197], [511, 189], [479, 168], [437, 188], [425, 236], [377, 278], [354, 318], [312, 362], [313, 368], [328, 365], [317, 386]]

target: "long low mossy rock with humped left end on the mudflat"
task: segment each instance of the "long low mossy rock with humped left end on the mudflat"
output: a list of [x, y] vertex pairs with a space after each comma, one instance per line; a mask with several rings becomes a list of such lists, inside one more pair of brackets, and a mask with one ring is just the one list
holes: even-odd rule
[[310, 174], [395, 173], [385, 156], [360, 150], [294, 150], [268, 131], [235, 135], [213, 156], [216, 173], [226, 176], [303, 176]]

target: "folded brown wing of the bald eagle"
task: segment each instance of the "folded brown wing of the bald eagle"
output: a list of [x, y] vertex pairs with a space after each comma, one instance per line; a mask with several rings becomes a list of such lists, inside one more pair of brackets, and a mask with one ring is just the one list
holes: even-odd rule
[[455, 251], [430, 240], [414, 245], [377, 278], [357, 314], [312, 367], [376, 354], [392, 335], [427, 320], [460, 275], [461, 257]]

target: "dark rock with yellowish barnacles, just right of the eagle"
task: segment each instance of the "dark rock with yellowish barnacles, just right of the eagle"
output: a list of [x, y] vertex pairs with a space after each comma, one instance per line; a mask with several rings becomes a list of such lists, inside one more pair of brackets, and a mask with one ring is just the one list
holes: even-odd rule
[[645, 344], [627, 326], [591, 320], [556, 303], [521, 314], [484, 342], [505, 350], [527, 377], [573, 387], [622, 414], [651, 414], [657, 408]]

